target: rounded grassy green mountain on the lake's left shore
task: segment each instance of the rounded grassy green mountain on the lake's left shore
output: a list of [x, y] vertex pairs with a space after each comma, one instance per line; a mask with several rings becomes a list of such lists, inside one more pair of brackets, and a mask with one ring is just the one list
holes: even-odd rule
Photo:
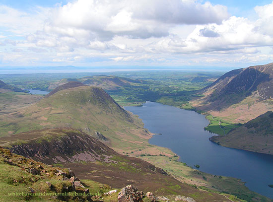
[[[58, 89], [62, 88], [65, 87]], [[85, 85], [56, 90], [36, 104], [0, 117], [0, 136], [60, 127], [78, 129], [95, 137], [99, 132], [109, 145], [120, 150], [136, 148], [136, 142], [147, 144], [146, 139], [151, 136], [139, 119], [120, 107], [102, 88]]]

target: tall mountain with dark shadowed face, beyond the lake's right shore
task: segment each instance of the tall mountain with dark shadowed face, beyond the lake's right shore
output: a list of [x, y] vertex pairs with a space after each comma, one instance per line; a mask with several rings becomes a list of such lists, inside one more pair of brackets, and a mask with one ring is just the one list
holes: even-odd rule
[[235, 69], [205, 87], [197, 109], [228, 122], [245, 123], [273, 110], [273, 63]]

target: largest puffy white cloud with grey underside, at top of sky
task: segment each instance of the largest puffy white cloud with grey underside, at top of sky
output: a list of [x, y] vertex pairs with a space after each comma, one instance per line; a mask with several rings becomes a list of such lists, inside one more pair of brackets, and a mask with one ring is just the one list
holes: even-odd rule
[[43, 30], [32, 37], [37, 46], [59, 50], [105, 49], [105, 42], [115, 36], [159, 38], [177, 24], [221, 23], [227, 18], [225, 6], [195, 0], [76, 0], [52, 9]]

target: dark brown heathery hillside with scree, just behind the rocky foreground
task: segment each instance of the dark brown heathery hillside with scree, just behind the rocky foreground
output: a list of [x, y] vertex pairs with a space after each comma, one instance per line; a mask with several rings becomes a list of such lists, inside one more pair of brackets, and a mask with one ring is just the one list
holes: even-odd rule
[[[225, 197], [218, 193], [200, 191], [192, 186], [181, 183], [169, 176], [162, 169], [141, 159], [118, 154], [108, 146], [90, 137], [90, 135], [74, 129], [63, 128], [32, 131], [14, 135], [11, 141], [9, 141], [9, 138], [0, 139], [12, 152], [21, 154], [27, 158], [72, 168], [74, 174], [82, 180], [91, 179], [103, 184], [109, 184], [115, 188], [134, 184], [139, 190], [152, 191], [157, 196], [184, 195], [194, 198], [196, 202], [211, 202], [214, 200], [218, 202], [230, 201], [227, 199], [229, 195]], [[18, 142], [20, 143], [18, 144]], [[6, 156], [3, 157], [6, 158]], [[29, 161], [26, 158], [24, 160]], [[15, 163], [15, 161], [12, 161], [12, 163]], [[44, 164], [41, 167], [36, 165], [35, 161], [32, 164], [28, 164], [28, 166], [34, 167], [37, 170], [37, 178], [40, 177], [40, 173], [41, 176], [43, 176], [42, 173], [46, 175], [48, 173], [47, 169], [53, 170], [53, 172], [55, 170], [54, 174], [50, 174], [49, 176], [56, 178], [56, 181], [58, 177], [62, 178], [61, 180], [66, 179], [66, 175], [71, 173], [68, 169], [64, 169], [64, 174]], [[20, 174], [17, 173], [17, 175]], [[72, 176], [73, 174], [70, 175]], [[48, 180], [48, 177], [43, 179], [42, 182], [46, 180]], [[57, 187], [53, 179], [50, 179], [50, 182], [52, 182], [54, 187]], [[62, 182], [58, 183], [61, 184]], [[63, 184], [65, 183], [63, 182]], [[44, 186], [48, 185], [45, 183]], [[37, 185], [34, 187], [35, 189], [39, 188]], [[47, 189], [49, 190], [49, 188]], [[117, 201], [117, 198], [113, 201]]]

